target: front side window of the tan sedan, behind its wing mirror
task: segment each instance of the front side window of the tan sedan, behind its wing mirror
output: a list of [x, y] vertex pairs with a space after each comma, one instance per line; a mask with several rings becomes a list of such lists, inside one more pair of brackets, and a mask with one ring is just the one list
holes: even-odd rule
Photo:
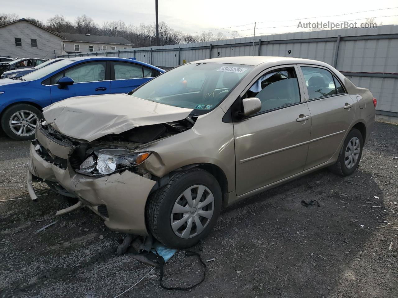
[[300, 89], [293, 68], [274, 70], [261, 76], [242, 98], [257, 97], [261, 112], [300, 102]]

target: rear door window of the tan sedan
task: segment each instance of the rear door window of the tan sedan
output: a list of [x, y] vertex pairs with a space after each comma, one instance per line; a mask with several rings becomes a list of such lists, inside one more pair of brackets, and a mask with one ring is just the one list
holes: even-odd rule
[[338, 93], [333, 75], [328, 70], [304, 66], [301, 67], [301, 70], [304, 74], [310, 100]]

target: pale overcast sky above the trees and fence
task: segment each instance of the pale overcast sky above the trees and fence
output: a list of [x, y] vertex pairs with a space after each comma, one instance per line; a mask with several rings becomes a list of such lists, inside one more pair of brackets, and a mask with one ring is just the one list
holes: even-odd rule
[[[99, 25], [103, 21], [119, 19], [134, 25], [155, 21], [155, 0], [18, 0], [4, 1], [1, 6], [0, 13], [16, 13], [20, 18], [33, 17], [43, 21], [55, 14], [63, 14], [70, 21], [86, 14]], [[253, 34], [255, 21], [258, 23], [256, 35], [306, 31], [297, 28], [298, 20], [290, 21], [302, 18], [312, 18], [303, 22], [361, 22], [367, 17], [375, 17], [377, 23], [382, 22], [383, 25], [398, 24], [398, 8], [394, 7], [398, 7], [396, 0], [159, 0], [159, 21], [166, 21], [170, 27], [183, 33], [200, 34], [197, 31], [213, 30], [213, 33], [222, 31], [228, 35], [228, 32], [237, 30], [243, 37]], [[394, 9], [380, 10], [382, 8]], [[368, 10], [375, 11], [363, 12]], [[341, 16], [328, 17], [332, 15]], [[249, 25], [241, 26], [245, 24]], [[232, 26], [240, 27], [219, 29]]]

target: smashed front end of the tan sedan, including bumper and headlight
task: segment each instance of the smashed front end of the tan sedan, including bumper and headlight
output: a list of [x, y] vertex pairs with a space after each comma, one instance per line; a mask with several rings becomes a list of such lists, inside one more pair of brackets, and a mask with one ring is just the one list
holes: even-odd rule
[[148, 144], [189, 130], [195, 119], [136, 126], [120, 134], [107, 134], [94, 141], [61, 134], [47, 122], [38, 125], [31, 144], [28, 189], [32, 182], [45, 182], [55, 192], [79, 199], [62, 209], [62, 215], [84, 206], [105, 220], [112, 230], [147, 234], [145, 204], [159, 177], [141, 166], [156, 153]]

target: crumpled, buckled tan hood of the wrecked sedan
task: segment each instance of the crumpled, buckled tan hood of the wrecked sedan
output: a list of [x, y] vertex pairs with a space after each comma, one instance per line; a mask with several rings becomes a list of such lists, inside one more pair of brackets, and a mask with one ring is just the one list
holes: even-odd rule
[[91, 142], [137, 126], [182, 120], [192, 110], [127, 94], [109, 94], [70, 97], [43, 108], [43, 115], [61, 134]]

